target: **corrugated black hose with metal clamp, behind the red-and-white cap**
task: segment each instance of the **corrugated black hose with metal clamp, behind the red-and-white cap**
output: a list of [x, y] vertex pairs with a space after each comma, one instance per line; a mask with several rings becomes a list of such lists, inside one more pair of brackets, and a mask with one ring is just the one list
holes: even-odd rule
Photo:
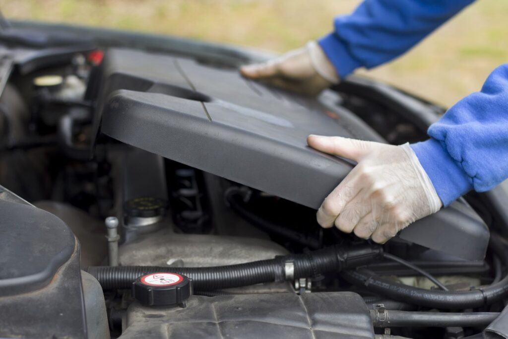
[[[281, 256], [228, 266], [94, 266], [88, 267], [88, 273], [93, 275], [105, 290], [128, 289], [141, 275], [170, 271], [192, 279], [195, 290], [213, 291], [338, 272], [345, 268], [365, 265], [380, 257], [382, 252], [379, 246], [355, 246], [348, 250], [333, 246], [308, 254]], [[288, 271], [285, 270], [287, 266], [290, 268]]]

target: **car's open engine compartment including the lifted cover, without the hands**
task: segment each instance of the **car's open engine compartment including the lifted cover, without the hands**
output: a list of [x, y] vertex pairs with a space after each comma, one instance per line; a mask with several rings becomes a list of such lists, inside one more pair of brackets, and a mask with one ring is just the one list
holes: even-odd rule
[[[0, 41], [0, 336], [461, 338], [506, 305], [502, 187], [382, 246], [315, 221], [354, 163], [308, 134], [417, 141], [438, 107], [361, 78], [298, 97], [206, 46], [15, 33]], [[133, 297], [165, 271], [193, 295]]]

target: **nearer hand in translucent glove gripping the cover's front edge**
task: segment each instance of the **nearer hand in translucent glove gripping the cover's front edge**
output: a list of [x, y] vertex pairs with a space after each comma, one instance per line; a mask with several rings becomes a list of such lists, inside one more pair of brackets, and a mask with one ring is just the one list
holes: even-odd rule
[[320, 151], [352, 159], [356, 167], [317, 211], [324, 228], [385, 243], [410, 223], [435, 213], [441, 200], [409, 144], [400, 146], [310, 135]]

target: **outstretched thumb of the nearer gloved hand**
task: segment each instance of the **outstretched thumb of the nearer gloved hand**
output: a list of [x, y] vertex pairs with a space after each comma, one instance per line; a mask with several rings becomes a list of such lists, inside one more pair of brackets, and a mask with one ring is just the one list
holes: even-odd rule
[[359, 162], [372, 151], [375, 143], [370, 141], [348, 139], [342, 137], [325, 137], [309, 135], [307, 143], [310, 147], [325, 153]]

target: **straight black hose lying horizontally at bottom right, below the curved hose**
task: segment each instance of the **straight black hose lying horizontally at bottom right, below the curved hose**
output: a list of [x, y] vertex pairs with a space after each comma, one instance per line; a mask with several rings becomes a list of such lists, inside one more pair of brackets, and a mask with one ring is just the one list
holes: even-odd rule
[[499, 313], [440, 313], [370, 310], [374, 327], [485, 327]]

